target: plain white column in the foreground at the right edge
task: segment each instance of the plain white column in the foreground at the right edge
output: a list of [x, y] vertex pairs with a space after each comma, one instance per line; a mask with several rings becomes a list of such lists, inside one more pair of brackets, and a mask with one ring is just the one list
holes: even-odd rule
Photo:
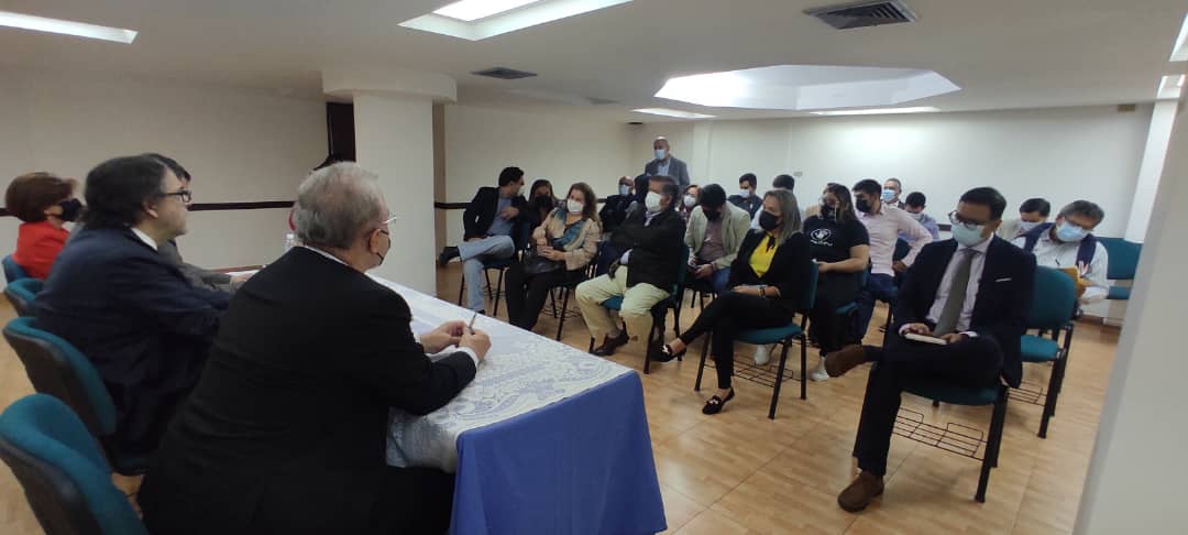
[[[1078, 534], [1183, 533], [1184, 529], [1188, 422], [1183, 392], [1188, 358], [1180, 336], [1186, 296], [1183, 271], [1188, 266], [1184, 206], [1188, 206], [1188, 113], [1181, 103], [1110, 377], [1078, 514]], [[1076, 366], [1075, 357], [1070, 365]]]

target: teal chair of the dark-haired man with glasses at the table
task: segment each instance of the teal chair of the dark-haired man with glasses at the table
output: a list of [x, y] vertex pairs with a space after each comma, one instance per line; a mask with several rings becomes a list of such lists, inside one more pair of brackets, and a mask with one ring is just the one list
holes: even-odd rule
[[91, 435], [99, 439], [116, 472], [138, 474], [145, 471], [147, 459], [112, 453], [115, 402], [87, 357], [62, 338], [34, 327], [32, 317], [8, 322], [4, 338], [25, 365], [33, 388], [74, 409]]

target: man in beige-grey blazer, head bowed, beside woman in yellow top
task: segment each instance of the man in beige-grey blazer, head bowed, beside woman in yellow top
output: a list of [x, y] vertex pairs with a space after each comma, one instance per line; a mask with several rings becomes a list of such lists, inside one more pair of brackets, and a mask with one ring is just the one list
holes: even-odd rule
[[721, 294], [731, 279], [731, 264], [750, 231], [751, 218], [726, 202], [726, 190], [709, 184], [701, 189], [701, 203], [689, 214], [684, 244], [689, 246], [689, 277], [704, 279]]

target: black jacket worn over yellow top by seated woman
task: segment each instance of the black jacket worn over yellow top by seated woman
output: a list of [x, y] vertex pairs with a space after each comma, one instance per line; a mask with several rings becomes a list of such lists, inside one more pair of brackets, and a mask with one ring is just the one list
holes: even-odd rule
[[776, 250], [776, 256], [771, 259], [771, 268], [759, 277], [751, 268], [751, 253], [760, 244], [766, 243], [766, 232], [751, 231], [739, 247], [739, 256], [731, 264], [731, 279], [727, 284], [734, 288], [739, 284], [756, 285], [766, 284], [779, 289], [777, 304], [786, 309], [789, 314], [797, 310], [804, 303], [804, 290], [808, 289], [804, 281], [808, 281], [813, 270], [813, 254], [809, 252], [809, 239], [803, 232], [792, 234]]

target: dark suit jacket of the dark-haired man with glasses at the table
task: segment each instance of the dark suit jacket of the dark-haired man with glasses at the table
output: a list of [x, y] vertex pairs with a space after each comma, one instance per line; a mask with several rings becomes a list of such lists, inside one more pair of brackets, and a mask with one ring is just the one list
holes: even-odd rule
[[62, 250], [33, 309], [39, 327], [99, 369], [115, 401], [112, 447], [143, 455], [197, 383], [227, 301], [190, 287], [132, 231], [87, 228]]

